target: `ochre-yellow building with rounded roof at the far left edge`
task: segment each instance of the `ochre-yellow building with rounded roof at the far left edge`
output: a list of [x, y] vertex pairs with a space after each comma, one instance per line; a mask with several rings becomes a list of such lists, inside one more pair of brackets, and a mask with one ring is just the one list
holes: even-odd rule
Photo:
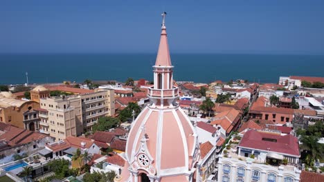
[[15, 99], [10, 92], [0, 92], [0, 121], [25, 129], [24, 113], [39, 108], [35, 101]]

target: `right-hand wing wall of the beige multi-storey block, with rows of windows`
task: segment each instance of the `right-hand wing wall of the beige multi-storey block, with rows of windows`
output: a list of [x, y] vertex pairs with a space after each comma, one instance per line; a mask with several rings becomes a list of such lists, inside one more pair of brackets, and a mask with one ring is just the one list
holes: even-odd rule
[[82, 132], [92, 129], [100, 117], [114, 116], [114, 90], [99, 90], [98, 92], [82, 94]]

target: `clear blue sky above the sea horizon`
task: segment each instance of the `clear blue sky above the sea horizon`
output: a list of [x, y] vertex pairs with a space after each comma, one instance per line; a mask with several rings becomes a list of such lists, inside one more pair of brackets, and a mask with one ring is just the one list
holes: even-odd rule
[[1, 0], [0, 53], [324, 54], [323, 0]]

